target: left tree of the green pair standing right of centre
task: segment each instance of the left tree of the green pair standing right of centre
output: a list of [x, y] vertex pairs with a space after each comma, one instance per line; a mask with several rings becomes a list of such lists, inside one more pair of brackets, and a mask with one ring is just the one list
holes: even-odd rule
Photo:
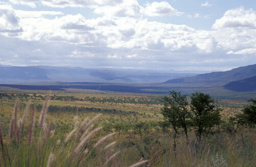
[[174, 130], [174, 148], [176, 147], [176, 137], [179, 134], [179, 128], [183, 128], [188, 141], [188, 129], [190, 127], [191, 113], [189, 112], [187, 95], [181, 95], [180, 92], [170, 91], [171, 96], [162, 98], [164, 107], [161, 108], [161, 114], [168, 120]]

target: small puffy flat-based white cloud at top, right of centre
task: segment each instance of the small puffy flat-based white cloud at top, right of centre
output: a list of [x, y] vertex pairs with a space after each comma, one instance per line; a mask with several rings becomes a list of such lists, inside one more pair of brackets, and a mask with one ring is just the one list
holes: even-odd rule
[[180, 16], [182, 13], [174, 9], [168, 2], [153, 2], [144, 10], [144, 14], [147, 16]]

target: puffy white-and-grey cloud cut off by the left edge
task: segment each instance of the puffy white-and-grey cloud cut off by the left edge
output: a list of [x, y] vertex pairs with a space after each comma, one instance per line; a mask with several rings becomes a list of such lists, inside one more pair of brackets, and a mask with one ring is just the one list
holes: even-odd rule
[[18, 33], [22, 29], [19, 26], [19, 18], [9, 5], [0, 5], [0, 33]]

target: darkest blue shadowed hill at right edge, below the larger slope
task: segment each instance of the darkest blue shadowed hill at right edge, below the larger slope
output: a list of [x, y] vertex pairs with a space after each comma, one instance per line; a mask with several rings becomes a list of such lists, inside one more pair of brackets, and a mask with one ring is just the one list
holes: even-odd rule
[[229, 82], [224, 86], [224, 88], [235, 92], [254, 91], [256, 90], [256, 76], [243, 80]]

